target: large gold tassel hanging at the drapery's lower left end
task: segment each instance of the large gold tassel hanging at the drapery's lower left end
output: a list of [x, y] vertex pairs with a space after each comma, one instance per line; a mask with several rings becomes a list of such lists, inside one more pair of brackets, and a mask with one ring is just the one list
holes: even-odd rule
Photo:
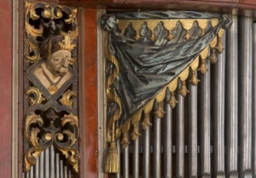
[[119, 172], [119, 158], [116, 143], [111, 142], [111, 147], [106, 155], [105, 172], [106, 173], [118, 173]]

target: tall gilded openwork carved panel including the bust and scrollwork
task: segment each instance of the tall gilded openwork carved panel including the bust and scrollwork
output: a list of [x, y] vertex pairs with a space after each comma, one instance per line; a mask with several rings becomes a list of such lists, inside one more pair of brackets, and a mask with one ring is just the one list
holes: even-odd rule
[[79, 171], [76, 8], [25, 3], [24, 171], [54, 145]]

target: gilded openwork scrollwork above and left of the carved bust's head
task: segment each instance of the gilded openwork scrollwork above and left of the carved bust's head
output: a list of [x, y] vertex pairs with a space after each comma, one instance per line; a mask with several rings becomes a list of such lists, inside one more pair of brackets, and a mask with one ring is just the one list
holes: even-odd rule
[[45, 39], [50, 33], [68, 34], [72, 39], [78, 36], [76, 8], [26, 2], [25, 11], [25, 33], [29, 49], [25, 57], [28, 61], [40, 59], [41, 39]]

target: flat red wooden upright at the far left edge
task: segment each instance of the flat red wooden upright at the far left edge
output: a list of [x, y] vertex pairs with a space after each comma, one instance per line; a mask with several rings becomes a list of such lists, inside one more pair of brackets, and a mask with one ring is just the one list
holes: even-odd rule
[[11, 1], [0, 1], [0, 177], [11, 178]]

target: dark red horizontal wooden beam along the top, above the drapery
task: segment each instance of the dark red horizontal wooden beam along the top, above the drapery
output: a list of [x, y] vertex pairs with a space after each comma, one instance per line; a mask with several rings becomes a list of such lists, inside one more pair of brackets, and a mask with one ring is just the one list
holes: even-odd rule
[[[256, 9], [255, 0], [59, 0], [69, 6], [91, 8], [178, 9], [193, 11], [232, 12], [233, 8]], [[223, 11], [222, 7], [225, 8]]]

